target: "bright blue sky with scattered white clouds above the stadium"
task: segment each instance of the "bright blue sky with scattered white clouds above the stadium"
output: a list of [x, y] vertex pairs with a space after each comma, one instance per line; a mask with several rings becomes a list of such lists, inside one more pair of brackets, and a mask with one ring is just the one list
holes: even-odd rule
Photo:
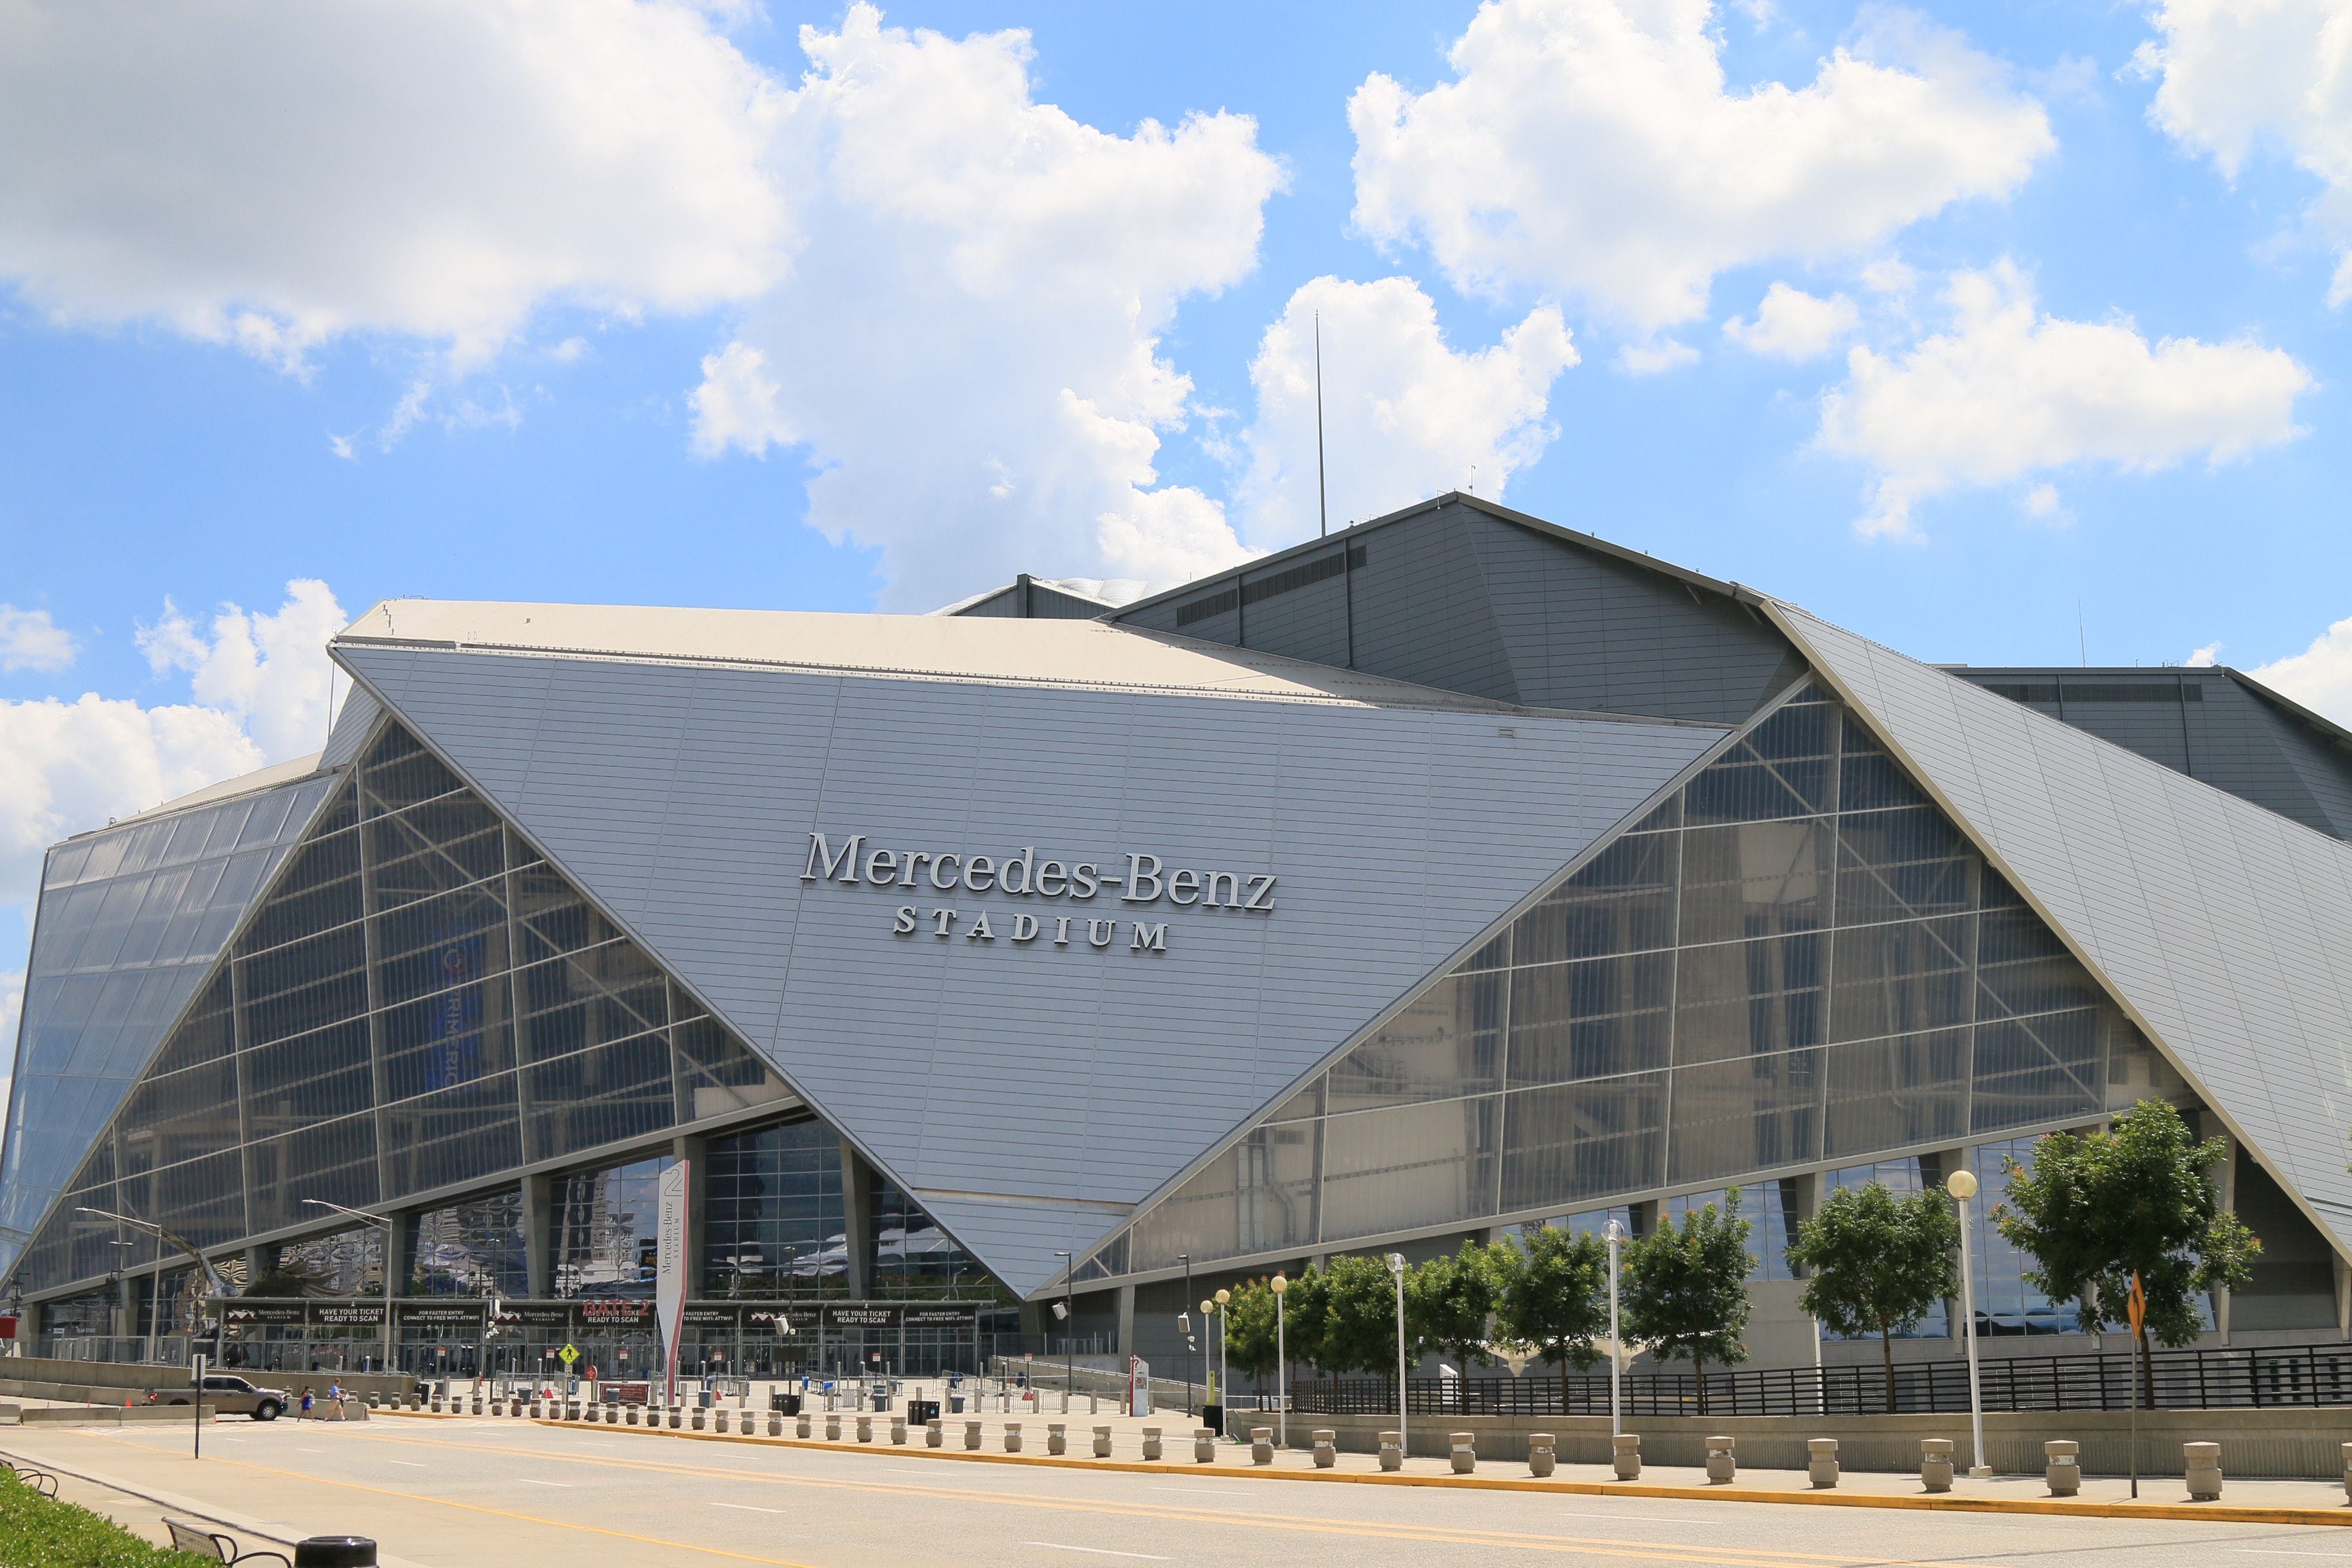
[[40, 846], [315, 748], [379, 597], [1296, 541], [1317, 310], [1341, 520], [1475, 484], [1922, 658], [2352, 719], [2343, 2], [40, 12], [0, 976]]

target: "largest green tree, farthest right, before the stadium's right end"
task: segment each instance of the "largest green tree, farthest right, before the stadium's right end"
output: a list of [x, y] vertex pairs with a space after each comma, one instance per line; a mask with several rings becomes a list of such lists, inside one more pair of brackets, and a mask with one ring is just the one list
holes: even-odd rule
[[2103, 1133], [2051, 1133], [2034, 1143], [2032, 1171], [2009, 1161], [1999, 1232], [2037, 1267], [2027, 1284], [2072, 1300], [2089, 1333], [2131, 1321], [2124, 1302], [2140, 1276], [2147, 1319], [2133, 1335], [2147, 1385], [2147, 1335], [2187, 1345], [2204, 1328], [2197, 1298], [2241, 1291], [2263, 1244], [2220, 1208], [2213, 1180], [2230, 1145], [2190, 1140], [2190, 1124], [2161, 1100], [2140, 1100]]

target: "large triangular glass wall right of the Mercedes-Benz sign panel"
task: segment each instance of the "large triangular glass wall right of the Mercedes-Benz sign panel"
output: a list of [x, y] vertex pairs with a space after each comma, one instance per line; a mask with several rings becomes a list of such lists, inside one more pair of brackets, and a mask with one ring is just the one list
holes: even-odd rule
[[1599, 1208], [2183, 1093], [1804, 684], [1112, 1248], [1141, 1272]]

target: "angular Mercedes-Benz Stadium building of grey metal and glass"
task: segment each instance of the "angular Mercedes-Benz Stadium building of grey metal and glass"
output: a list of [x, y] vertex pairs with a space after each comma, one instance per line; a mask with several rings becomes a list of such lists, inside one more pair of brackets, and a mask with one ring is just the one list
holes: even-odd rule
[[[1167, 1366], [1188, 1279], [1733, 1185], [1799, 1359], [1825, 1190], [1997, 1197], [2140, 1098], [2230, 1140], [2265, 1241], [2213, 1335], [2345, 1333], [2324, 719], [1924, 665], [1470, 496], [1089, 588], [369, 609], [320, 757], [47, 856], [0, 1154], [35, 1333], [644, 1366], [687, 1159], [703, 1366], [969, 1363], [1063, 1295]], [[1976, 1258], [1990, 1333], [2065, 1340]]]

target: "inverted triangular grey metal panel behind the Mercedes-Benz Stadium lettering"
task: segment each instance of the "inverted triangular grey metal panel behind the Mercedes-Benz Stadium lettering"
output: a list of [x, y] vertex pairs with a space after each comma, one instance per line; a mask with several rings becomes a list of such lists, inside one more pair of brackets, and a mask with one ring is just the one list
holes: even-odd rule
[[[343, 646], [908, 1192], [1134, 1204], [1722, 731]], [[1272, 914], [804, 882], [837, 849], [1275, 875]], [[920, 926], [894, 936], [894, 910]], [[957, 910], [934, 936], [934, 910]], [[967, 936], [988, 912], [993, 938]], [[1042, 919], [1016, 945], [1009, 922]], [[1167, 922], [1134, 952], [1134, 922]], [[1070, 919], [1068, 943], [1056, 922]], [[1117, 922], [1089, 945], [1091, 922]], [[1096, 1239], [1117, 1215], [1091, 1213]], [[953, 1227], [946, 1213], [941, 1220]], [[1018, 1220], [1018, 1225], [1016, 1225]], [[957, 1232], [1016, 1288], [1042, 1276]], [[1065, 1241], [1056, 1241], [1063, 1246]], [[1047, 1248], [1051, 1251], [1051, 1248]]]

